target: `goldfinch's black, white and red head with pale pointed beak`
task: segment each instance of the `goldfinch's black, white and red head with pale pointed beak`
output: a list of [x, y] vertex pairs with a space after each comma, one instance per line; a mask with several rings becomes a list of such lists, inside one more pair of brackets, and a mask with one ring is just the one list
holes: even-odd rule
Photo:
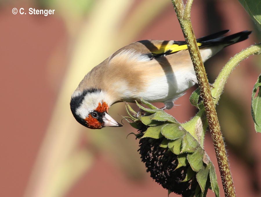
[[108, 114], [110, 104], [111, 100], [106, 93], [98, 89], [89, 89], [83, 92], [75, 91], [70, 107], [77, 122], [90, 129], [122, 126]]

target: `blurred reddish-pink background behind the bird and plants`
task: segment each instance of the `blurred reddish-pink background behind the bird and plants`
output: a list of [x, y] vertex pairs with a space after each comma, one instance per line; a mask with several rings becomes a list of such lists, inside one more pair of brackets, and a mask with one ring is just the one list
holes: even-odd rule
[[[122, 24], [128, 20], [128, 16], [139, 6], [139, 3], [141, 1], [133, 2], [128, 13], [122, 19]], [[153, 1], [153, 3], [157, 3], [157, 1]], [[79, 24], [75, 25], [74, 37], [72, 37], [66, 28], [64, 18], [59, 15], [59, 10], [57, 10], [59, 7], [52, 8], [50, 6], [47, 9], [56, 9], [57, 12], [55, 11], [54, 15], [44, 17], [12, 14], [14, 7], [38, 8], [35, 1], [4, 1], [0, 5], [0, 102], [2, 104], [0, 118], [0, 196], [17, 197], [26, 195], [26, 188], [37, 154], [46, 135], [55, 101], [64, 82], [65, 73], [68, 71], [73, 41], [77, 38], [77, 33], [81, 31], [81, 24], [88, 22], [90, 16], [84, 15]], [[214, 8], [215, 10], [212, 10]], [[115, 10], [115, 12], [117, 11]], [[217, 16], [221, 16], [221, 18], [217, 18]], [[104, 20], [106, 20], [106, 16]], [[236, 0], [195, 1], [192, 6], [192, 24], [197, 37], [224, 29], [230, 29], [230, 34], [242, 30], [253, 30], [248, 40], [229, 46], [216, 58], [214, 57], [207, 62], [206, 69], [211, 83], [230, 57], [260, 41], [258, 39], [260, 33], [255, 30], [249, 15]], [[128, 35], [122, 36], [123, 38], [128, 37]], [[171, 1], [166, 3], [159, 15], [146, 24], [135, 38], [132, 38], [132, 41], [142, 39], [184, 40]], [[103, 44], [101, 44], [102, 46]], [[102, 52], [103, 49], [101, 48], [99, 53]], [[88, 63], [86, 62], [86, 64]], [[237, 153], [231, 151], [230, 146], [226, 147], [238, 196], [261, 195], [258, 190], [261, 176], [259, 157], [261, 134], [255, 133], [250, 107], [251, 91], [260, 74], [260, 68], [260, 57], [250, 57], [233, 71], [224, 89], [224, 92], [229, 92], [228, 97], [234, 97], [242, 104], [240, 110], [243, 110], [244, 124], [248, 128], [245, 131], [247, 134], [244, 134], [246, 135], [244, 138], [247, 138], [245, 143], [246, 154], [242, 156], [240, 148], [236, 148], [239, 151]], [[78, 79], [77, 83], [80, 80], [81, 78]], [[179, 106], [167, 111], [180, 122], [189, 120], [195, 114], [195, 108], [189, 103], [190, 93], [194, 89], [189, 90], [175, 103]], [[73, 89], [70, 92], [73, 92]], [[70, 97], [68, 97], [68, 104], [64, 108], [69, 108], [69, 100]], [[220, 105], [221, 103], [222, 96]], [[162, 104], [157, 106], [162, 106]], [[110, 115], [117, 117], [116, 119], [120, 121], [121, 117], [118, 114], [126, 114], [124, 109], [120, 109], [123, 107], [124, 105], [117, 104], [113, 107]], [[218, 115], [221, 121], [222, 112], [219, 113], [218, 111]], [[61, 114], [62, 117], [63, 114]], [[73, 119], [73, 116], [71, 118]], [[136, 132], [126, 122], [124, 124], [124, 127], [114, 129], [115, 135], [124, 133], [124, 136], [127, 136], [128, 133]], [[221, 122], [221, 126], [223, 125], [226, 126], [225, 123], [222, 124]], [[88, 133], [106, 132], [106, 129], [91, 131], [84, 127], [80, 128], [79, 147], [92, 148], [89, 138], [86, 138], [86, 133], [88, 135]], [[232, 133], [235, 133], [235, 136], [241, 135], [237, 131]], [[229, 135], [228, 133], [225, 137], [229, 137]], [[235, 136], [231, 134], [230, 137], [235, 139]], [[128, 139], [124, 138], [124, 140], [134, 141], [129, 150], [131, 151], [130, 154], [135, 155], [136, 160], [138, 160], [138, 140], [135, 140], [132, 135]], [[205, 149], [217, 170], [215, 152], [209, 133], [206, 135]], [[128, 176], [128, 173], [125, 172], [126, 169], [117, 165], [117, 161], [106, 152], [95, 150], [92, 152], [94, 153], [94, 160], [91, 167], [75, 180], [64, 196], [167, 196], [167, 191], [155, 183], [146, 173], [143, 163], [138, 164], [142, 169], [141, 174]], [[248, 158], [246, 155], [251, 157]], [[253, 159], [254, 162], [246, 161], [248, 159], [251, 161]], [[218, 171], [217, 176], [220, 194], [224, 196]], [[253, 178], [255, 181], [253, 181]], [[170, 196], [175, 196], [175, 194], [170, 194]], [[214, 196], [214, 194], [209, 191], [207, 196]]]

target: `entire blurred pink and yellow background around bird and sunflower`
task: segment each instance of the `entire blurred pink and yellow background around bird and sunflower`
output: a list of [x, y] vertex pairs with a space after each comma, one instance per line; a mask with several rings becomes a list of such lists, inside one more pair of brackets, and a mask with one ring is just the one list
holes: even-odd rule
[[[55, 12], [14, 15], [13, 8]], [[211, 83], [230, 57], [260, 42], [237, 0], [197, 0], [191, 18], [197, 37], [253, 30], [249, 39], [206, 62]], [[87, 129], [75, 121], [69, 103], [84, 75], [122, 46], [142, 39], [184, 40], [171, 1], [2, 0], [0, 26], [0, 196], [167, 196], [146, 173], [138, 140], [126, 139], [135, 129], [124, 120], [120, 128]], [[261, 195], [261, 134], [251, 118], [260, 60], [252, 56], [233, 71], [217, 107], [238, 196]], [[196, 113], [189, 103], [195, 88], [167, 111], [180, 122]], [[110, 115], [120, 122], [124, 104], [113, 105]], [[218, 169], [209, 133], [205, 149]]]

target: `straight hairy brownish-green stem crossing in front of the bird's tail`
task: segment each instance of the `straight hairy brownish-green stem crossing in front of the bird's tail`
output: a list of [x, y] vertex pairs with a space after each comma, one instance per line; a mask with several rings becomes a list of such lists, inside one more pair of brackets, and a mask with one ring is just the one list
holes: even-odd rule
[[220, 171], [222, 185], [224, 188], [224, 193], [226, 197], [235, 197], [235, 189], [233, 185], [231, 171], [229, 169], [229, 163], [226, 156], [226, 150], [220, 130], [220, 125], [218, 122], [217, 112], [215, 110], [215, 104], [213, 102], [209, 82], [206, 76], [206, 71], [191, 25], [190, 10], [193, 0], [188, 0], [187, 3], [189, 3], [189, 5], [186, 5], [186, 9], [184, 8], [184, 3], [182, 0], [171, 1], [173, 3], [177, 18], [180, 22], [186, 44], [188, 45], [188, 50], [197, 76], [197, 82], [200, 88], [200, 95], [204, 103], [206, 117], [209, 124], [209, 130], [218, 160], [218, 167]]

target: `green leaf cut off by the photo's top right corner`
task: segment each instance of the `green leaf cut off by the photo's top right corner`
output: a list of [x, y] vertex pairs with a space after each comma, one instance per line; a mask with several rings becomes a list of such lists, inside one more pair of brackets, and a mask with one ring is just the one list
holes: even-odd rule
[[253, 0], [238, 0], [261, 31], [261, 3]]

